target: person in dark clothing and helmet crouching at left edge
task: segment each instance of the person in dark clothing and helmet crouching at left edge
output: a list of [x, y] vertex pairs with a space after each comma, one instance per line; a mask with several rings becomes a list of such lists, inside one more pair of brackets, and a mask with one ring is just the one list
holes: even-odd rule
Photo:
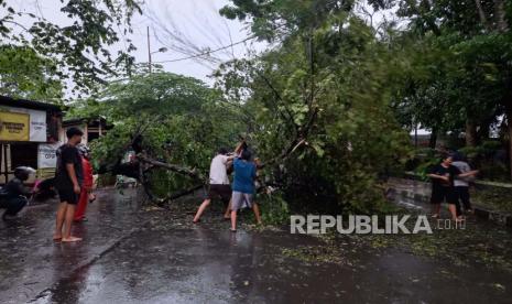
[[18, 215], [21, 209], [29, 203], [26, 199], [31, 195], [30, 191], [24, 187], [23, 182], [29, 180], [32, 169], [20, 166], [14, 170], [14, 178], [6, 184], [2, 189], [2, 208], [6, 208], [2, 219], [10, 219]]

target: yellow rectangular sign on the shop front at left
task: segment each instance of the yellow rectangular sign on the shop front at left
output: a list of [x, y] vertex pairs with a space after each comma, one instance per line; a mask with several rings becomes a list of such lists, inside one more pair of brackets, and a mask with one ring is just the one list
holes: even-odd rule
[[0, 141], [29, 141], [28, 113], [0, 112]]

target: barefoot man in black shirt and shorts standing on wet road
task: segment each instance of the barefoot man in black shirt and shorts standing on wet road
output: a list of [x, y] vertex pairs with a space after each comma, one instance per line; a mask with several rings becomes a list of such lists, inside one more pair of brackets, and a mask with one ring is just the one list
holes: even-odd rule
[[61, 198], [61, 204], [57, 209], [56, 229], [53, 236], [53, 239], [56, 241], [72, 242], [81, 240], [72, 236], [72, 224], [84, 176], [81, 159], [76, 148], [81, 142], [83, 134], [78, 128], [67, 129], [67, 143], [57, 150], [55, 188]]

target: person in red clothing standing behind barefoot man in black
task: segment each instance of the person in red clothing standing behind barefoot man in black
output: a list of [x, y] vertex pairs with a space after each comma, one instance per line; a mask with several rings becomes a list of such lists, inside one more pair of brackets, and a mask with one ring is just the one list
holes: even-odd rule
[[75, 210], [75, 221], [87, 220], [85, 214], [87, 210], [87, 205], [92, 203], [96, 197], [92, 194], [92, 166], [90, 165], [90, 153], [89, 148], [85, 144], [77, 145], [78, 152], [81, 156], [81, 169], [84, 171], [84, 183], [81, 184], [80, 197], [78, 199], [78, 205]]

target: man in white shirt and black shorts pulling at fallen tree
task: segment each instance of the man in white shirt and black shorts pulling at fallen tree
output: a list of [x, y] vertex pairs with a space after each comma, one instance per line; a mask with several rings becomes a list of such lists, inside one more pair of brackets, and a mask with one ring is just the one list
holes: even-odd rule
[[210, 181], [209, 189], [206, 199], [200, 204], [194, 217], [194, 224], [199, 221], [200, 216], [206, 207], [211, 203], [211, 199], [220, 197], [228, 205], [231, 199], [231, 186], [228, 178], [228, 165], [235, 156], [229, 156], [228, 151], [224, 148], [219, 149], [217, 155], [211, 160], [210, 164]]

